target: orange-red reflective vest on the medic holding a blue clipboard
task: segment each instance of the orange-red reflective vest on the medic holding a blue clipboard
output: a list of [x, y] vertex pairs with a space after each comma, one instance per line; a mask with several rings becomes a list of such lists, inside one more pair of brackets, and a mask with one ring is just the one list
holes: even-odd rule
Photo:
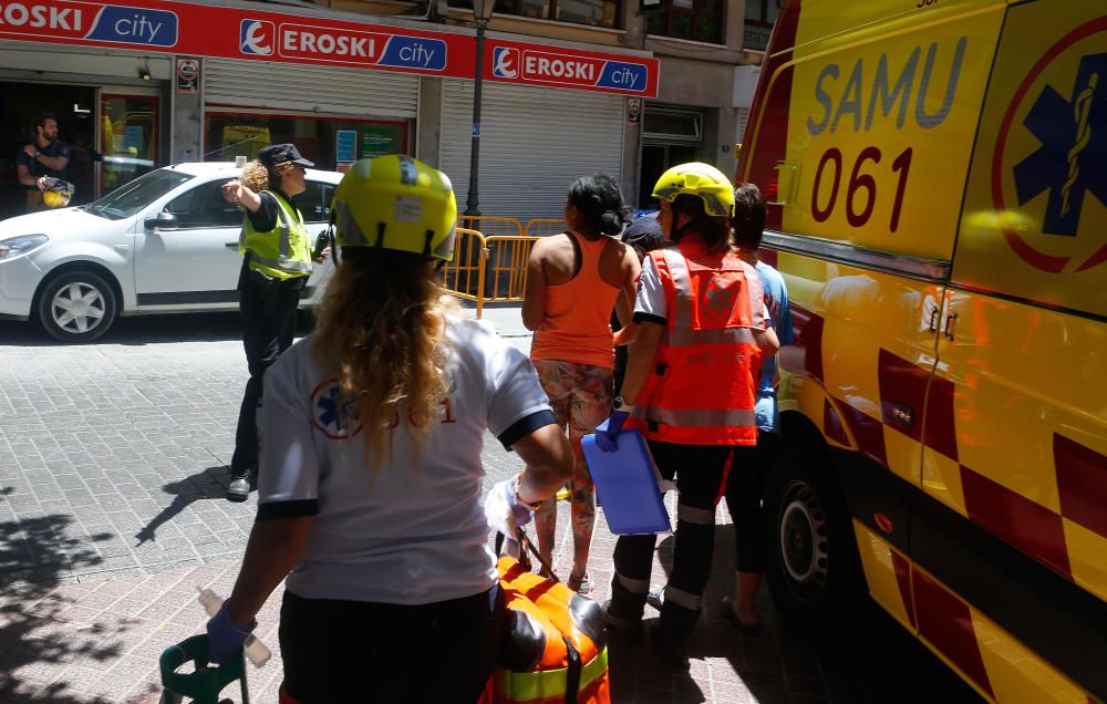
[[756, 269], [694, 237], [648, 256], [668, 312], [654, 373], [627, 427], [680, 445], [757, 444], [754, 332], [765, 329], [765, 304]]

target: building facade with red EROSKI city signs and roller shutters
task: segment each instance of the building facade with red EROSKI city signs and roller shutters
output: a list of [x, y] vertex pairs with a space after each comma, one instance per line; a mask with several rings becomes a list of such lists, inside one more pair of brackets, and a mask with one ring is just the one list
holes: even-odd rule
[[[733, 172], [759, 63], [743, 50], [743, 7], [663, 0], [641, 13], [631, 0], [499, 0], [484, 46], [480, 211], [560, 217], [567, 185], [597, 172], [618, 177], [629, 204], [650, 207], [668, 166], [700, 159]], [[19, 211], [14, 157], [41, 111], [73, 146], [76, 203], [157, 166], [252, 157], [280, 142], [339, 170], [413, 154], [445, 170], [464, 203], [470, 8], [6, 2], [0, 216]]]

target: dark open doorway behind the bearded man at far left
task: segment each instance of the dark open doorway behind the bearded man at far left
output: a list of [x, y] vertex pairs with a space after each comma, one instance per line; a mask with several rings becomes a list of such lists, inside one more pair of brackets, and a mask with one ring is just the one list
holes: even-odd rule
[[0, 82], [0, 219], [22, 215], [27, 188], [15, 157], [30, 144], [41, 112], [58, 120], [58, 138], [70, 145], [65, 179], [75, 187], [71, 205], [95, 199], [96, 89], [84, 85]]

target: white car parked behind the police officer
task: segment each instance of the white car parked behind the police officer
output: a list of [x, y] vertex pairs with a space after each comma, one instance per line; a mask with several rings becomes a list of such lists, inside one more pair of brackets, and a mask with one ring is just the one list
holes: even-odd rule
[[[0, 319], [37, 318], [63, 342], [104, 334], [116, 315], [234, 310], [242, 211], [223, 198], [232, 163], [175, 164], [95, 203], [0, 221]], [[342, 174], [308, 169], [297, 196], [311, 241]], [[311, 300], [330, 261], [308, 280]]]

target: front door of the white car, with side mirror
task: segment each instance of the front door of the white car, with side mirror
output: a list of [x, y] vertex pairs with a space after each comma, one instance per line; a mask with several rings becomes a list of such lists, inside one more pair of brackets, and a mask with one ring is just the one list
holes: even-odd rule
[[229, 178], [197, 184], [162, 209], [172, 226], [138, 236], [135, 289], [139, 308], [234, 308], [242, 256], [242, 211], [223, 197]]

